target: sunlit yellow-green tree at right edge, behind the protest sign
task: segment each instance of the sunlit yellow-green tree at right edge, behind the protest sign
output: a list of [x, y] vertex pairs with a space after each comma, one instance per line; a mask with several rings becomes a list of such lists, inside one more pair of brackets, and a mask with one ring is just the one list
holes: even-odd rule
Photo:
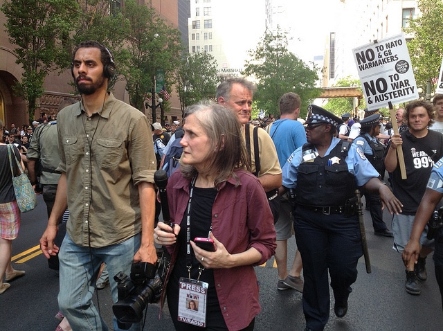
[[413, 33], [408, 42], [410, 62], [413, 65], [417, 87], [426, 89], [426, 84], [440, 73], [443, 57], [443, 1], [418, 0], [421, 17], [409, 20], [406, 33]]

